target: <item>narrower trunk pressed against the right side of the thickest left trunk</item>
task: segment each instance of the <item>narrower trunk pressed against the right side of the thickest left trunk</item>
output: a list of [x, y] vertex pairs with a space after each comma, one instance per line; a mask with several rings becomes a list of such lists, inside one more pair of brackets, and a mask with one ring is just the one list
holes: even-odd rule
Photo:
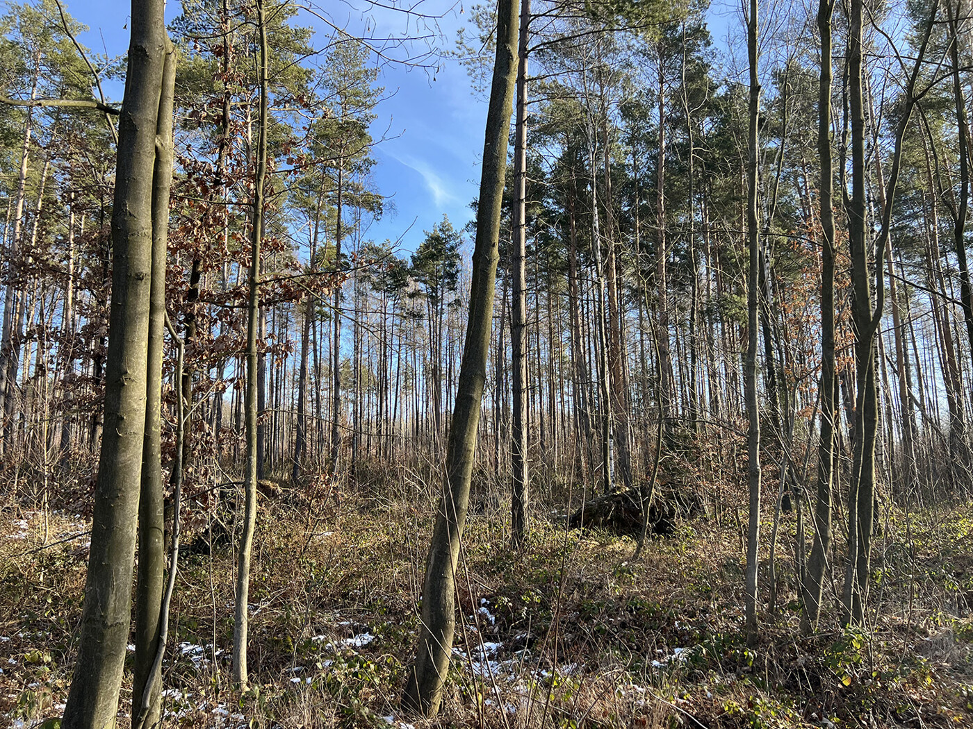
[[[165, 336], [165, 250], [172, 185], [172, 107], [175, 49], [168, 44], [156, 127], [156, 168], [152, 198], [152, 286], [146, 374], [142, 483], [138, 504], [138, 569], [135, 584], [135, 666], [132, 726], [156, 727], [162, 721], [162, 661], [156, 661], [162, 632], [162, 577], [165, 539], [162, 484], [162, 340]], [[184, 400], [185, 406], [185, 400]], [[181, 429], [180, 429], [181, 430]], [[178, 448], [182, 443], [176, 443]], [[176, 470], [176, 469], [173, 469]]]

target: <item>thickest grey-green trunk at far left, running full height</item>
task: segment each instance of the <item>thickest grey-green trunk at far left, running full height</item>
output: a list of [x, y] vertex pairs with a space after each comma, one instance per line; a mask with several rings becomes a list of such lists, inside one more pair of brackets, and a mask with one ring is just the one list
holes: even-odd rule
[[65, 729], [115, 725], [125, 666], [146, 419], [157, 125], [167, 44], [162, 0], [132, 2], [112, 214], [105, 427]]

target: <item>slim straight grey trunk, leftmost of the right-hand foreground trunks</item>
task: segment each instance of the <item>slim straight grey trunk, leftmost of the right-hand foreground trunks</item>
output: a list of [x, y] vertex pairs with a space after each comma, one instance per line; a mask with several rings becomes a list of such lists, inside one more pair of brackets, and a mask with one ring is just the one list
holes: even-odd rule
[[757, 223], [757, 125], [760, 121], [760, 81], [757, 76], [757, 0], [750, 0], [746, 23], [746, 47], [750, 65], [750, 124], [746, 166], [746, 232], [749, 249], [747, 266], [746, 360], [743, 364], [743, 388], [747, 417], [747, 484], [750, 491], [749, 526], [746, 535], [746, 571], [744, 602], [746, 608], [746, 642], [754, 645], [760, 638], [757, 621], [757, 573], [760, 547], [760, 409], [757, 403], [757, 313], [760, 290], [760, 230]]

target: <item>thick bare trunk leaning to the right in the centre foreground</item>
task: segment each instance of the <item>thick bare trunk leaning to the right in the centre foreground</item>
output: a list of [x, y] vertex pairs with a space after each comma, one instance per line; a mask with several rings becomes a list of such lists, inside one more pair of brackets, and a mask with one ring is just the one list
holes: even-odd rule
[[466, 342], [450, 422], [446, 482], [436, 512], [436, 526], [422, 587], [422, 629], [415, 663], [402, 697], [405, 707], [426, 716], [439, 711], [443, 684], [450, 667], [455, 628], [455, 570], [470, 500], [470, 478], [493, 317], [500, 208], [507, 168], [507, 135], [517, 77], [517, 41], [517, 0], [498, 0], [496, 58], [486, 112], [486, 140]]

